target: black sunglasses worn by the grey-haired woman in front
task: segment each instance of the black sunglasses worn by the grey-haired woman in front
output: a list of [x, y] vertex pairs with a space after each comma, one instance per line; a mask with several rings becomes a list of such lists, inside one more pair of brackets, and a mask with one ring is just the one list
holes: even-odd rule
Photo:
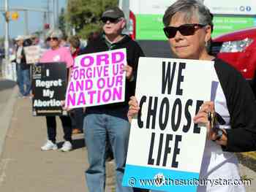
[[204, 26], [206, 25], [198, 24], [198, 23], [184, 24], [178, 27], [167, 26], [164, 28], [164, 31], [165, 31], [166, 37], [170, 39], [176, 36], [177, 31], [179, 31], [184, 36], [189, 36], [189, 35], [195, 34], [195, 31], [198, 28], [203, 28]]

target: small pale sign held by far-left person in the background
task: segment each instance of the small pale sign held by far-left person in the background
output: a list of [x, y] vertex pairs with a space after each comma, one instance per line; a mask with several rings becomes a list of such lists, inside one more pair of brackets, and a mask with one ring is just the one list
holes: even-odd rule
[[26, 55], [27, 64], [35, 64], [39, 62], [39, 58], [42, 56], [42, 53], [45, 52], [45, 49], [42, 49], [39, 45], [32, 45], [29, 47], [24, 47]]

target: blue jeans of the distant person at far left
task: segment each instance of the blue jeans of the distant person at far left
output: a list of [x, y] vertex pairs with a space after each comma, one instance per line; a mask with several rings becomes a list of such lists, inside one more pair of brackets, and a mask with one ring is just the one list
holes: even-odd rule
[[29, 75], [29, 69], [20, 69], [20, 66], [18, 64], [18, 87], [20, 90], [20, 94], [22, 96], [28, 96], [31, 91], [31, 81], [30, 81], [30, 75]]

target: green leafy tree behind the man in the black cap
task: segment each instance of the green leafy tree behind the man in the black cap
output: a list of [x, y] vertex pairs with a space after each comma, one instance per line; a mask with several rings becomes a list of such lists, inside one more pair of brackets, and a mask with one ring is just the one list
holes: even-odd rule
[[118, 5], [118, 0], [68, 0], [66, 19], [78, 35], [87, 38], [91, 31], [99, 31], [102, 12]]

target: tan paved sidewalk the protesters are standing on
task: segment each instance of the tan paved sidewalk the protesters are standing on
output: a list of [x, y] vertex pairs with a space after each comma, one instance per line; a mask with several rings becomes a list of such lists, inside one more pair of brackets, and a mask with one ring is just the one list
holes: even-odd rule
[[[88, 191], [84, 177], [88, 161], [83, 134], [73, 137], [74, 150], [71, 152], [42, 152], [40, 147], [46, 139], [45, 118], [32, 117], [31, 100], [18, 99], [17, 92], [17, 88], [9, 91], [9, 101], [15, 99], [10, 101], [15, 104], [5, 142], [1, 138], [4, 145], [0, 146], [3, 147], [0, 156], [0, 191]], [[8, 107], [10, 106], [11, 104]], [[57, 125], [57, 141], [62, 142], [63, 133], [59, 118]], [[110, 163], [107, 167], [106, 191], [113, 191], [113, 164]]]

